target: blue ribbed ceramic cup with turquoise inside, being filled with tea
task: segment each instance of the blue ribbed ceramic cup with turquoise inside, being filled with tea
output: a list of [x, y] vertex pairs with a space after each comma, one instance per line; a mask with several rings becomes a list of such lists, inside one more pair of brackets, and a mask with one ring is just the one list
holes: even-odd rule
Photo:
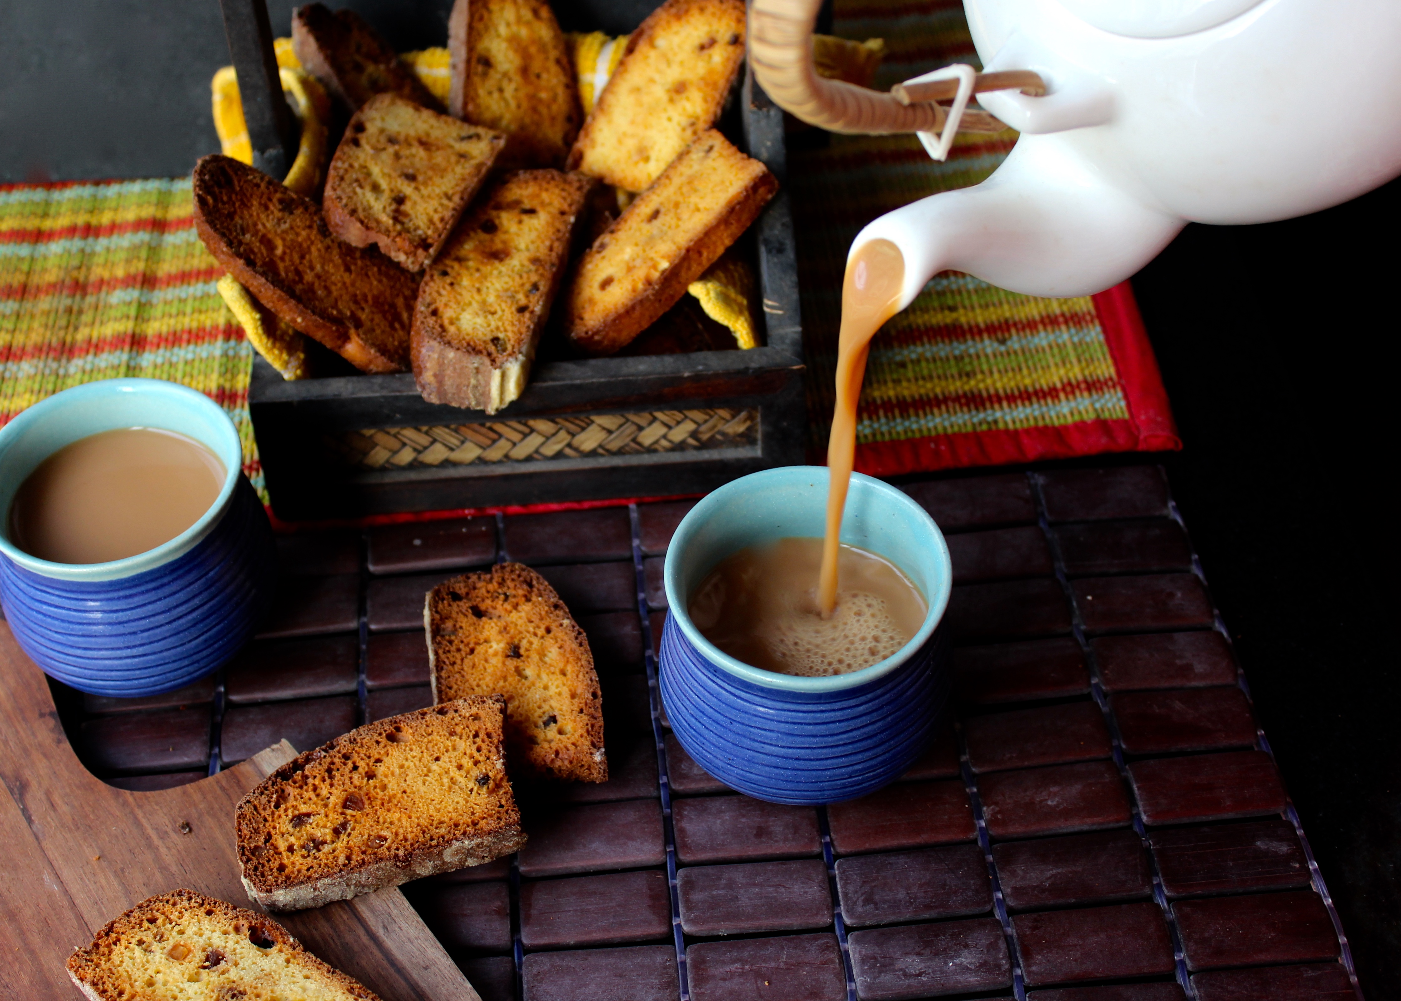
[[894, 657], [862, 671], [797, 678], [722, 652], [691, 622], [691, 592], [720, 560], [789, 536], [820, 538], [827, 468], [783, 466], [727, 483], [691, 508], [667, 550], [661, 700], [677, 739], [726, 785], [780, 804], [873, 792], [919, 756], [948, 699], [943, 630], [953, 570], [944, 536], [904, 493], [856, 473], [842, 542], [885, 557], [929, 613]]

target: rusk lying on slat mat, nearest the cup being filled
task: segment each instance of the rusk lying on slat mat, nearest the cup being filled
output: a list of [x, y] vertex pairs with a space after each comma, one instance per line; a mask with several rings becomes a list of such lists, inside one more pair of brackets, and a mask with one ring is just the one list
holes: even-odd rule
[[520, 563], [454, 577], [425, 598], [423, 626], [436, 699], [506, 696], [513, 769], [565, 781], [608, 780], [588, 637], [544, 577]]

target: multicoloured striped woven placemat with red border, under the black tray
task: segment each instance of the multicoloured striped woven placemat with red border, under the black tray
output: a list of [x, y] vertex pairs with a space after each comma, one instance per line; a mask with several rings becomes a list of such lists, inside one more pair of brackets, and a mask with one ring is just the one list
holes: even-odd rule
[[[836, 34], [884, 38], [878, 87], [974, 62], [957, 0], [838, 0]], [[790, 160], [810, 441], [832, 410], [842, 267], [867, 221], [982, 181], [1016, 134], [965, 136], [944, 164], [911, 136], [834, 136]], [[188, 178], [0, 188], [0, 423], [80, 382], [172, 379], [221, 403], [262, 491], [252, 353], [214, 290]], [[1128, 286], [1041, 300], [937, 276], [877, 335], [862, 393], [857, 468], [877, 475], [1177, 448], [1167, 398]]]

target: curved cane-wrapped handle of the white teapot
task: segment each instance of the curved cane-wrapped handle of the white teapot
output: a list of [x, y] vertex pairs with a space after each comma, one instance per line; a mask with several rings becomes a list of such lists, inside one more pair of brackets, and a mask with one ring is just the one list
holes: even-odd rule
[[944, 112], [936, 104], [904, 105], [890, 94], [824, 80], [813, 67], [813, 27], [822, 0], [754, 0], [750, 11], [750, 63], [776, 105], [828, 132], [883, 136], [939, 133]]

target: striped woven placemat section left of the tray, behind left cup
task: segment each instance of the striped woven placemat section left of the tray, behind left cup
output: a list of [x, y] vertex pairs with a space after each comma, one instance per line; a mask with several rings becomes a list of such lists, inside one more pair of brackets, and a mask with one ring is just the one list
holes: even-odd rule
[[81, 382], [142, 375], [199, 389], [248, 420], [252, 349], [195, 235], [189, 178], [0, 188], [0, 424]]

